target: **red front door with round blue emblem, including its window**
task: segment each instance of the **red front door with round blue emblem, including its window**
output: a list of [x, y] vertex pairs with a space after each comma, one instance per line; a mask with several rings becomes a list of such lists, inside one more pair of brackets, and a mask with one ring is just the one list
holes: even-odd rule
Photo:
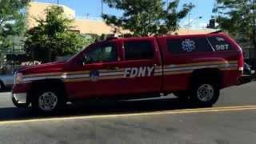
[[102, 97], [119, 94], [122, 70], [118, 46], [102, 42], [85, 50], [74, 75], [70, 75], [70, 93], [75, 98]]

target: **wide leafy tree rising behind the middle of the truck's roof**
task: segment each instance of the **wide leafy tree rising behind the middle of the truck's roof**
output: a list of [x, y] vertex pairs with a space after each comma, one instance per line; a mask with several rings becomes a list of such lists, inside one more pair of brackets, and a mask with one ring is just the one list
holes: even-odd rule
[[122, 10], [120, 18], [103, 14], [108, 25], [130, 30], [134, 35], [147, 36], [167, 34], [178, 29], [178, 23], [194, 7], [192, 3], [184, 4], [178, 10], [179, 0], [173, 0], [166, 6], [162, 0], [104, 0], [110, 8]]

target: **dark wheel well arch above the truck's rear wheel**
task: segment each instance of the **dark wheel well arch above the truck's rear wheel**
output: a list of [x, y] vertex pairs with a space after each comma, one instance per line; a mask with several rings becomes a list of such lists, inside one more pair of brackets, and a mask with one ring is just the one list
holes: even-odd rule
[[198, 80], [210, 80], [211, 82], [217, 82], [222, 87], [222, 72], [216, 68], [214, 69], [200, 69], [194, 70], [190, 78], [190, 86], [193, 85], [193, 82]]

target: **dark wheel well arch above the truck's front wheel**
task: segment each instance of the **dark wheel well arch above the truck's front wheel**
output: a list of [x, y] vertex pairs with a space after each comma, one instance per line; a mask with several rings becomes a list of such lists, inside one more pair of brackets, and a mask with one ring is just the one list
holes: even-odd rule
[[31, 102], [32, 97], [34, 94], [38, 92], [38, 90], [42, 89], [57, 89], [59, 92], [62, 93], [64, 98], [67, 98], [66, 95], [66, 88], [64, 82], [60, 79], [46, 79], [46, 80], [39, 80], [39, 81], [34, 81], [32, 82], [32, 87], [30, 91], [28, 91], [28, 100]]

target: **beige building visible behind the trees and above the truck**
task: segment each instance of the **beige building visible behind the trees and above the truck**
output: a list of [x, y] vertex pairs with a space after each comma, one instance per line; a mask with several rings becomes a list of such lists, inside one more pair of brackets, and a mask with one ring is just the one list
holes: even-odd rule
[[[80, 34], [114, 34], [116, 28], [114, 26], [107, 26], [105, 22], [102, 21], [101, 18], [82, 18], [76, 17], [75, 11], [72, 10], [68, 6], [64, 5], [56, 5], [53, 3], [45, 3], [45, 2], [30, 2], [30, 6], [26, 8], [26, 23], [27, 27], [33, 28], [37, 26], [38, 23], [34, 20], [34, 18], [45, 18], [44, 10], [49, 8], [50, 6], [62, 6], [64, 13], [67, 18], [74, 19], [74, 28], [73, 30], [78, 31]], [[175, 31], [173, 34], [206, 34], [213, 32], [215, 30], [211, 29], [201, 29], [194, 30], [188, 28], [180, 28]], [[119, 34], [127, 34], [130, 33], [129, 30], [118, 30]]]

